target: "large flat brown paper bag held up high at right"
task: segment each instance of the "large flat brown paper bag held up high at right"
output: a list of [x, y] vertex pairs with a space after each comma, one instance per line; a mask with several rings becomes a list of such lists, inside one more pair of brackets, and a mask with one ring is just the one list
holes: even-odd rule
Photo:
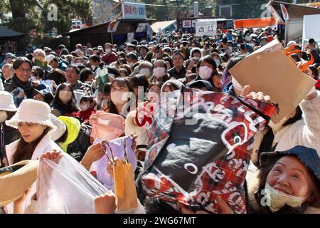
[[230, 69], [241, 86], [250, 85], [252, 91], [262, 91], [271, 96], [272, 103], [279, 104], [279, 113], [272, 116], [274, 123], [292, 113], [316, 83], [284, 51], [276, 39]]

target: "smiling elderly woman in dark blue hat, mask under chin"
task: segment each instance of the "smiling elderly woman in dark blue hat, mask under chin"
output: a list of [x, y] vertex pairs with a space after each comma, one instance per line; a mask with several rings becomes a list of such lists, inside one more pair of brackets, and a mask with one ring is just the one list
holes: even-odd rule
[[255, 177], [247, 178], [248, 212], [320, 213], [320, 158], [316, 150], [296, 146], [264, 152]]

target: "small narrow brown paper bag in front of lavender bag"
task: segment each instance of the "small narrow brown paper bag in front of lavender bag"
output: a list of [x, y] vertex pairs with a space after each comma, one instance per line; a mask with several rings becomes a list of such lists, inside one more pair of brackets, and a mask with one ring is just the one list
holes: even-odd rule
[[117, 211], [138, 207], [132, 164], [121, 160], [113, 167]]

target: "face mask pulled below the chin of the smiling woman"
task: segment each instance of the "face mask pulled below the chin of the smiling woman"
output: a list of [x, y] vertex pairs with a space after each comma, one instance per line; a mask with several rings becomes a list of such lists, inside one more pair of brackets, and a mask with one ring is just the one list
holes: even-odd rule
[[265, 184], [265, 196], [267, 197], [267, 206], [273, 213], [284, 207], [285, 204], [291, 207], [301, 207], [304, 199], [309, 197], [309, 195], [306, 197], [294, 197], [293, 195], [275, 190], [267, 183]]

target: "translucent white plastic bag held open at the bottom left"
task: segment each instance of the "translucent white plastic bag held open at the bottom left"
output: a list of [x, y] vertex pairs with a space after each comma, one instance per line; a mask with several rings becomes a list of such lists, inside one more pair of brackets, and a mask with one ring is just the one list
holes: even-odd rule
[[108, 190], [67, 153], [60, 160], [41, 160], [37, 211], [41, 214], [92, 214], [93, 200]]

